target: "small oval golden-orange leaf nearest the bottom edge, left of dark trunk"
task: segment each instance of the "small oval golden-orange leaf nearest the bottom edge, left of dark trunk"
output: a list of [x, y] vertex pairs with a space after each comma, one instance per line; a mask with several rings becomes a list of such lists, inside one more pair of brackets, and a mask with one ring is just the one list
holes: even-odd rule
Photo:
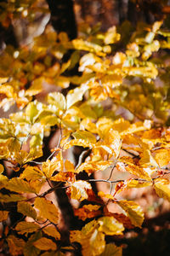
[[53, 250], [53, 251], [55, 251], [57, 249], [57, 246], [54, 243], [54, 241], [52, 241], [52, 240], [50, 240], [50, 239], [48, 239], [46, 237], [42, 237], [39, 240], [34, 241], [33, 245], [35, 247], [37, 247], [38, 249], [42, 250], [42, 251], [43, 250], [44, 251], [46, 251], [46, 250]]

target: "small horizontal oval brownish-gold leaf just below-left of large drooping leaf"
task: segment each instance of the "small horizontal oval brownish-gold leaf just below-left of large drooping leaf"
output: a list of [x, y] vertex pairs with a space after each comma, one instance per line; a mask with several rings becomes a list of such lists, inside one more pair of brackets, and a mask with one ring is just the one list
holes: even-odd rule
[[26, 222], [26, 221], [21, 221], [15, 227], [15, 230], [21, 235], [24, 235], [27, 233], [33, 233], [39, 229], [40, 227], [37, 224], [33, 222]]

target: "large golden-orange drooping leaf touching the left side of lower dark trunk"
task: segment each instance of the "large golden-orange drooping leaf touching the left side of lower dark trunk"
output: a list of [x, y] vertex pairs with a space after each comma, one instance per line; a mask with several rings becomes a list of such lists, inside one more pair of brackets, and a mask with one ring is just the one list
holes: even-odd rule
[[39, 210], [39, 216], [42, 218], [48, 218], [49, 221], [54, 224], [58, 224], [59, 210], [54, 206], [52, 201], [37, 197], [34, 202], [34, 206]]

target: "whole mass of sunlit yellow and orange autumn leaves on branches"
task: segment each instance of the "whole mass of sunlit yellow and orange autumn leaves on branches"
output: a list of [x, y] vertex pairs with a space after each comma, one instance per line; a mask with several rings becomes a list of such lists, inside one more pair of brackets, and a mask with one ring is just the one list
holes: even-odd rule
[[[144, 212], [136, 202], [120, 200], [119, 193], [152, 186], [158, 196], [170, 201], [166, 178], [170, 131], [165, 125], [169, 122], [170, 32], [162, 21], [139, 24], [122, 51], [122, 35], [115, 26], [105, 33], [98, 26], [82, 26], [80, 35], [70, 41], [64, 32], [47, 30], [29, 47], [7, 46], [1, 56], [0, 106], [4, 111], [18, 108], [0, 119], [1, 245], [11, 255], [64, 255], [74, 253], [77, 243], [84, 256], [122, 255], [122, 247], [106, 244], [105, 236], [141, 228]], [[69, 50], [71, 58], [63, 62]], [[78, 74], [70, 76], [77, 64]], [[56, 91], [38, 101], [44, 84], [55, 84]], [[74, 89], [66, 95], [59, 92], [70, 84]], [[107, 108], [106, 100], [111, 102]], [[127, 119], [119, 114], [122, 109], [127, 109]], [[51, 148], [47, 160], [38, 162], [43, 138], [52, 128], [59, 130], [58, 145]], [[82, 154], [88, 150], [86, 160], [80, 155], [77, 166], [63, 156], [74, 146], [84, 148]], [[9, 163], [16, 177], [7, 172]], [[89, 177], [108, 169], [107, 179]], [[112, 179], [115, 169], [133, 176]], [[82, 172], [89, 178], [79, 179]], [[100, 182], [110, 184], [110, 194], [95, 195], [92, 184]], [[71, 200], [86, 200], [75, 215], [87, 224], [82, 230], [71, 230], [67, 246], [60, 236], [59, 207], [48, 200], [60, 184]], [[122, 213], [109, 212], [105, 198], [121, 207]], [[8, 224], [11, 202], [22, 214], [13, 227]]]

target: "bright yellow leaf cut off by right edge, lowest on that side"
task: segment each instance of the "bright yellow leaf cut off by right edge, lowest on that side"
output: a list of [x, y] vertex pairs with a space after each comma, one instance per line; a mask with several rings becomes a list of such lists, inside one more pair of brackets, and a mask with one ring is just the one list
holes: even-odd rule
[[156, 194], [159, 197], [170, 201], [170, 183], [168, 179], [156, 178], [154, 188], [156, 189]]

